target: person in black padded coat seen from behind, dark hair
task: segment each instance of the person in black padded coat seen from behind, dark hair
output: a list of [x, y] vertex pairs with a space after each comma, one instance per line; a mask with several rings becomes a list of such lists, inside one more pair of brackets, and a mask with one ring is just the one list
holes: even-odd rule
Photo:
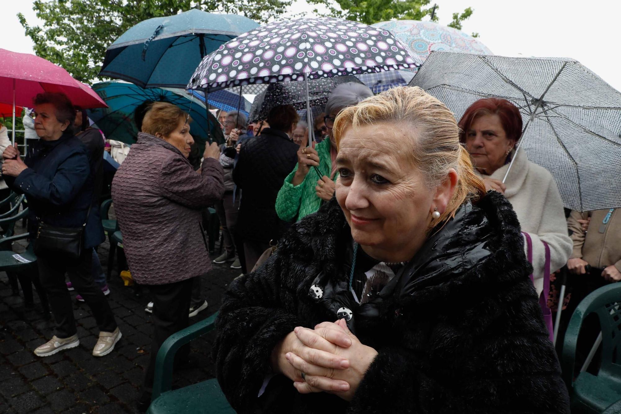
[[276, 196], [297, 162], [298, 146], [289, 138], [299, 116], [291, 105], [273, 108], [269, 128], [241, 147], [233, 181], [242, 189], [237, 226], [243, 237], [246, 270], [250, 272], [285, 226], [276, 214]]

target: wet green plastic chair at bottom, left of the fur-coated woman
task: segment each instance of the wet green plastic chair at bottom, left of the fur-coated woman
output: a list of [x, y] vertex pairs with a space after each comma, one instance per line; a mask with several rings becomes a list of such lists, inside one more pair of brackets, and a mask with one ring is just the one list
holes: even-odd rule
[[147, 414], [235, 414], [216, 379], [171, 390], [175, 354], [184, 344], [214, 329], [217, 313], [172, 334], [160, 347], [155, 362], [155, 381]]

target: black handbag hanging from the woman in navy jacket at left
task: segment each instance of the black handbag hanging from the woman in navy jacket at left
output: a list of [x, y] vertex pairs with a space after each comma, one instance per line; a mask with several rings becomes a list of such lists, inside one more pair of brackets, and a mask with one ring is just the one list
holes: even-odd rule
[[37, 237], [34, 240], [35, 255], [41, 257], [62, 257], [77, 260], [84, 246], [84, 228], [91, 214], [89, 207], [84, 224], [80, 227], [60, 227], [39, 221]]

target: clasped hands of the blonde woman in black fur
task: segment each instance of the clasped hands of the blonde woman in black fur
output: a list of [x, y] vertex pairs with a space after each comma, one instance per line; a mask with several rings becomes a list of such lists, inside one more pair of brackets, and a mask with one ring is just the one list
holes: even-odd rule
[[349, 401], [377, 354], [338, 320], [298, 326], [274, 348], [272, 366], [300, 393], [329, 392]]

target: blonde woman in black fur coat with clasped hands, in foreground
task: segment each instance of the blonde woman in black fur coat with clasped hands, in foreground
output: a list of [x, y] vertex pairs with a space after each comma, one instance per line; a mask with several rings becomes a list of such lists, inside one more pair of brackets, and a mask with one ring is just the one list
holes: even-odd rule
[[336, 197], [225, 293], [239, 413], [568, 413], [511, 205], [453, 114], [394, 88], [339, 114]]

